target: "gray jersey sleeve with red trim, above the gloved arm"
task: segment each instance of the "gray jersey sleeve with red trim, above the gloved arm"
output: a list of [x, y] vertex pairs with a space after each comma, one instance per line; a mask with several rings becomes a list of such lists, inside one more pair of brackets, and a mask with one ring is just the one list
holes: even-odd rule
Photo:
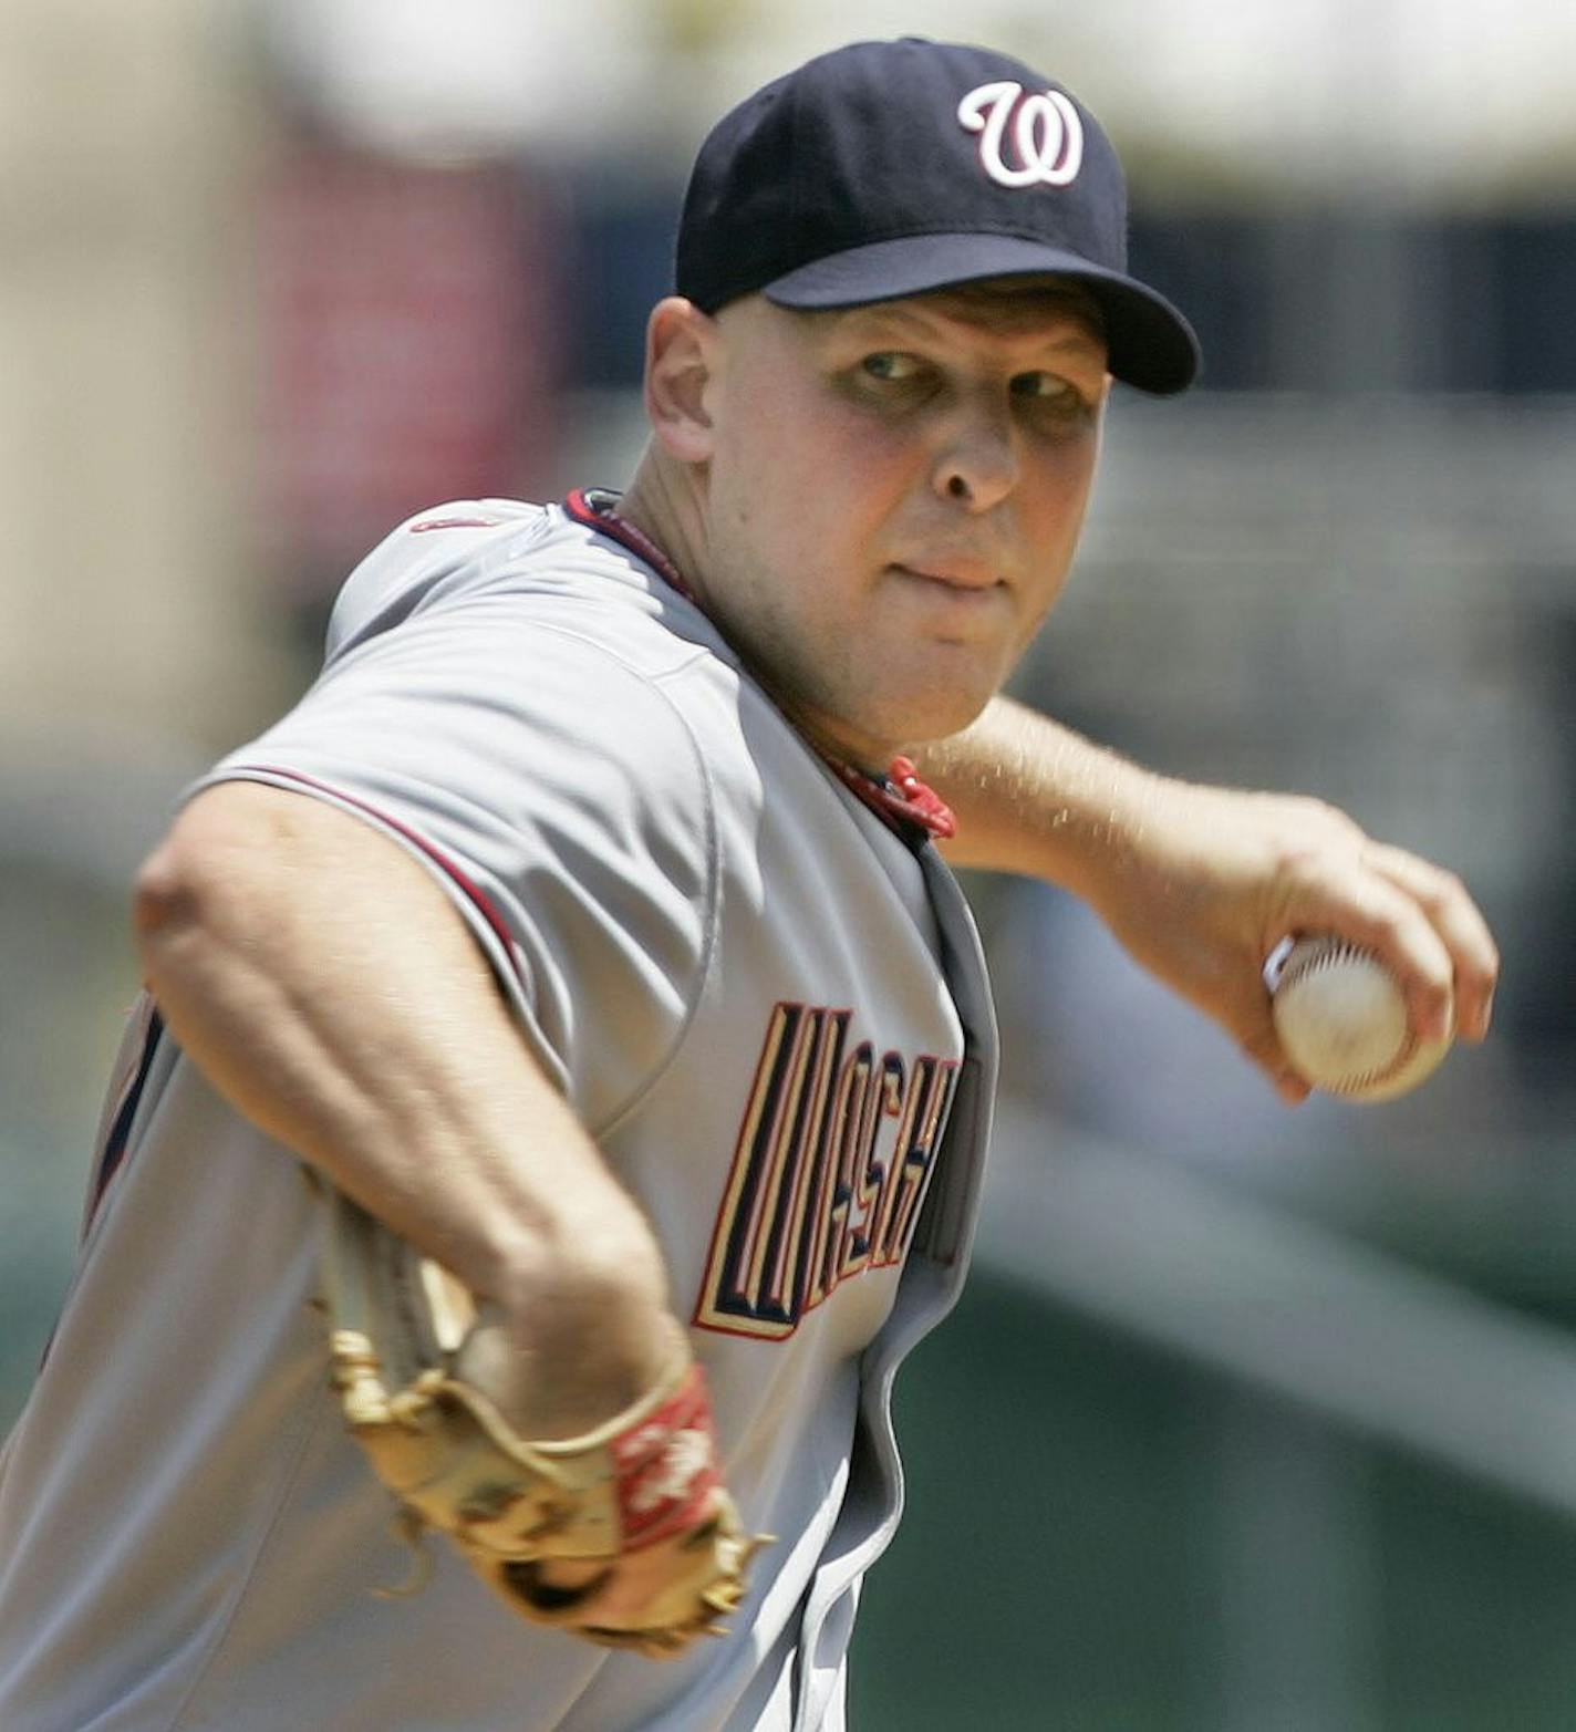
[[662, 679], [599, 641], [594, 615], [483, 587], [352, 634], [197, 788], [237, 778], [410, 850], [592, 1133], [662, 1072], [708, 963], [714, 800]]

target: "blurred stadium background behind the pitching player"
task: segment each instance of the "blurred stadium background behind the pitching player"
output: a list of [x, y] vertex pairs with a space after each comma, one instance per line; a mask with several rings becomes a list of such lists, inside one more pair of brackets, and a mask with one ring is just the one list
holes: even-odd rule
[[0, 1427], [69, 1276], [126, 885], [177, 792], [301, 689], [404, 513], [625, 476], [705, 125], [904, 31], [1096, 107], [1140, 268], [1205, 343], [1195, 397], [1115, 404], [1022, 691], [1455, 866], [1505, 979], [1491, 1044], [1415, 1098], [1289, 1114], [1075, 904], [975, 887], [1003, 1136], [972, 1292], [899, 1393], [911, 1517], [856, 1723], [1569, 1729], [1559, 0], [5, 0]]

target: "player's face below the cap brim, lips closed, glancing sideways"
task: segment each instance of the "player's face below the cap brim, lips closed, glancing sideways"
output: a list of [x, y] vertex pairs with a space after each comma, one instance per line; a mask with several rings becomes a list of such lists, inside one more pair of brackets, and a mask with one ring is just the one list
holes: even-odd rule
[[1075, 298], [1001, 288], [717, 319], [708, 604], [812, 734], [966, 726], [1072, 563], [1107, 397]]

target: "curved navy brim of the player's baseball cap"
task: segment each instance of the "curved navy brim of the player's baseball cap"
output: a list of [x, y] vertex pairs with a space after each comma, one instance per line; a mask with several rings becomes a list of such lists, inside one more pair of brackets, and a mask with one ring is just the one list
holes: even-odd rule
[[1070, 277], [1105, 317], [1112, 376], [1157, 397], [1185, 391], [1198, 376], [1198, 338], [1186, 319], [1136, 277], [1091, 265], [1011, 234], [914, 234], [833, 253], [767, 282], [779, 307], [862, 307], [991, 277]]

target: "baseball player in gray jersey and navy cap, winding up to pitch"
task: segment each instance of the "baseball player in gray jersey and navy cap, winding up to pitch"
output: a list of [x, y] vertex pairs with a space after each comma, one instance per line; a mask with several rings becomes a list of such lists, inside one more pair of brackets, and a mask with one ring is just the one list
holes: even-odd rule
[[1446, 875], [994, 700], [1110, 378], [1195, 372], [1122, 234], [1051, 80], [812, 61], [701, 147], [623, 495], [440, 506], [350, 577], [139, 882], [0, 1479], [9, 1732], [842, 1727], [991, 1115], [939, 842], [1088, 895], [1276, 1076], [1299, 925], [1482, 1031]]

